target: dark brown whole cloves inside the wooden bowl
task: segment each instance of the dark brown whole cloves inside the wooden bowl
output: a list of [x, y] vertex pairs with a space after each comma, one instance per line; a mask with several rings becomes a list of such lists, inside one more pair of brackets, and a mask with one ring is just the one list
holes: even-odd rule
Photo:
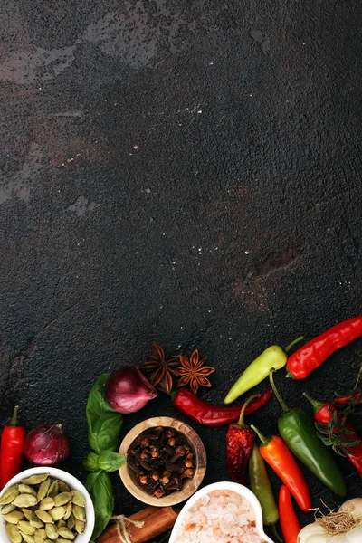
[[184, 481], [194, 477], [194, 452], [174, 428], [157, 426], [140, 433], [129, 447], [127, 462], [138, 484], [156, 498], [181, 490]]

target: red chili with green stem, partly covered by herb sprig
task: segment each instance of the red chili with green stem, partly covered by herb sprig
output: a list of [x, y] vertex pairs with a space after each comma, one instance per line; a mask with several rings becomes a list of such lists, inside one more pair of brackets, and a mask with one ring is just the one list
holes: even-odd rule
[[[316, 423], [323, 425], [329, 424], [333, 413], [337, 411], [336, 406], [331, 404], [330, 402], [326, 402], [325, 404], [323, 404], [322, 402], [319, 402], [318, 400], [310, 397], [310, 395], [306, 392], [303, 395], [313, 406], [314, 420], [316, 421]], [[342, 417], [342, 414], [338, 414], [338, 420], [341, 420]], [[348, 430], [348, 433], [346, 433], [345, 436], [341, 436], [342, 440], [343, 437], [345, 437], [347, 442], [357, 441], [359, 443], [357, 443], [352, 449], [350, 449], [351, 452], [348, 452], [345, 449], [344, 453], [346, 454], [346, 458], [348, 459], [348, 461], [357, 470], [359, 477], [362, 479], [362, 441], [351, 424], [347, 423], [346, 428]]]

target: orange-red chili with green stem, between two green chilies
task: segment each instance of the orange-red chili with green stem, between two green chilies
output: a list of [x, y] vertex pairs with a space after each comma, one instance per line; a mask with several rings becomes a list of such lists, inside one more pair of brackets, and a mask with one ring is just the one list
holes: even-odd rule
[[300, 509], [308, 513], [311, 508], [310, 491], [291, 451], [279, 435], [264, 437], [255, 426], [251, 427], [262, 442], [259, 447], [262, 458], [291, 491]]

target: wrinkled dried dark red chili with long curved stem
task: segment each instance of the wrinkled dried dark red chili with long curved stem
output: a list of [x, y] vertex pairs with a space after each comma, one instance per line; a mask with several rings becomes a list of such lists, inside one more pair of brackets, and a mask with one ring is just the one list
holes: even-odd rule
[[246, 400], [240, 413], [237, 424], [230, 424], [226, 433], [226, 470], [233, 482], [245, 484], [246, 468], [252, 454], [254, 444], [254, 433], [244, 421], [246, 407], [260, 395], [252, 395]]

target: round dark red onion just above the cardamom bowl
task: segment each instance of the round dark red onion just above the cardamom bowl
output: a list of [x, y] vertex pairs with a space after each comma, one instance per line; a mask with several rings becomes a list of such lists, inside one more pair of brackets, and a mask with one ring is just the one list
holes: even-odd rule
[[27, 460], [39, 466], [54, 466], [67, 460], [71, 443], [62, 424], [44, 424], [26, 437], [24, 454]]

